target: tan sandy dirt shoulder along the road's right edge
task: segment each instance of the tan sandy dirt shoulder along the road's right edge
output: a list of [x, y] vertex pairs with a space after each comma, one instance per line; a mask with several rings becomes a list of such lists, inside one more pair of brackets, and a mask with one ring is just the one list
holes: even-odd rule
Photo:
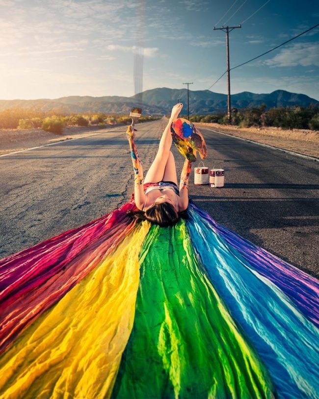
[[221, 133], [272, 145], [284, 150], [319, 158], [319, 131], [265, 127], [239, 128], [238, 126], [219, 125], [218, 123], [195, 123], [199, 128], [210, 128]]

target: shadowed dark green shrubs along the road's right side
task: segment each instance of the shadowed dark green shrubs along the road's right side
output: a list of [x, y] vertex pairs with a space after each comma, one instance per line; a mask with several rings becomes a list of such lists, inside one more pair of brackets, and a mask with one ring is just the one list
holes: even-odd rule
[[[225, 113], [192, 115], [189, 119], [191, 122], [228, 124], [228, 117]], [[319, 130], [319, 107], [293, 106], [266, 110], [266, 105], [263, 104], [259, 107], [234, 109], [232, 119], [232, 124], [241, 128], [275, 126], [283, 129]]]

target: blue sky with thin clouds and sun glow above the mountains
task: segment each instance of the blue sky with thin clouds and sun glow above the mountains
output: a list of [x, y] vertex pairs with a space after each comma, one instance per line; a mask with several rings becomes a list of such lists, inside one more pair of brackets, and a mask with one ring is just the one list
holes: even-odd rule
[[[226, 70], [225, 33], [213, 27], [231, 6], [216, 25], [242, 23], [230, 33], [231, 67], [319, 22], [314, 0], [270, 0], [244, 22], [265, 2], [0, 0], [0, 99], [132, 96], [139, 46], [143, 90], [208, 89]], [[227, 93], [226, 83], [211, 90]], [[277, 89], [319, 100], [319, 27], [231, 71], [233, 94]]]

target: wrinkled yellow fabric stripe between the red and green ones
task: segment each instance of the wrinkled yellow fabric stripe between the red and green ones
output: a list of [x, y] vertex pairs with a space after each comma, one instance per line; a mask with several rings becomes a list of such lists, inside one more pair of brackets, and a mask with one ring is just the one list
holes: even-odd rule
[[109, 398], [133, 327], [145, 221], [0, 359], [1, 398]]

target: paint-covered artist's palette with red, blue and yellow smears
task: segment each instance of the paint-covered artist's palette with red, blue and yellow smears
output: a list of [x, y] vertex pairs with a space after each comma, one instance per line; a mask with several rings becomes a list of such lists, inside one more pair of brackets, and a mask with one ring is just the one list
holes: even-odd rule
[[176, 119], [171, 124], [171, 134], [178, 151], [190, 162], [195, 162], [197, 152], [202, 160], [207, 157], [204, 137], [192, 122]]

